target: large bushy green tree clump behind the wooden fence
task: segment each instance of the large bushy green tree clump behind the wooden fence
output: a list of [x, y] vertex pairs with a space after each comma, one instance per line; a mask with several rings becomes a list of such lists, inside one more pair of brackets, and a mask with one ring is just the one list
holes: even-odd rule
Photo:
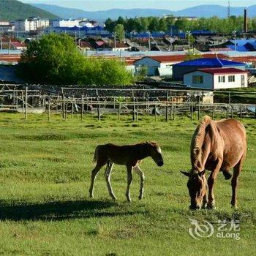
[[31, 42], [21, 55], [18, 74], [32, 83], [57, 85], [125, 85], [133, 82], [124, 63], [86, 58], [67, 34], [49, 34]]

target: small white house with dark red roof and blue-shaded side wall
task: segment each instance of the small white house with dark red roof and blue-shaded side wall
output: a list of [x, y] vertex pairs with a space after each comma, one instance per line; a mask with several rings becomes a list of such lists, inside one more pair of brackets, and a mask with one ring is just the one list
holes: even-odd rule
[[197, 69], [184, 74], [184, 84], [201, 89], [230, 89], [248, 86], [248, 72], [236, 68]]

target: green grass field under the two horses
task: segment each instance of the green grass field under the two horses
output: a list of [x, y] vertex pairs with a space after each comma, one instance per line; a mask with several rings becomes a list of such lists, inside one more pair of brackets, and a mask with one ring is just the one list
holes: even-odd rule
[[[197, 120], [154, 117], [79, 117], [0, 114], [0, 254], [1, 255], [255, 255], [256, 250], [256, 120], [243, 119], [248, 157], [239, 178], [238, 211], [230, 207], [230, 181], [219, 173], [217, 210], [189, 211], [187, 178], [189, 144]], [[94, 148], [99, 143], [156, 140], [165, 165], [152, 159], [140, 165], [146, 175], [145, 198], [138, 200], [134, 173], [132, 203], [127, 203], [126, 170], [114, 165], [110, 200], [104, 170], [94, 199], [89, 181]], [[190, 219], [200, 222], [235, 218], [240, 240], [189, 236]], [[215, 230], [218, 225], [214, 224]]]

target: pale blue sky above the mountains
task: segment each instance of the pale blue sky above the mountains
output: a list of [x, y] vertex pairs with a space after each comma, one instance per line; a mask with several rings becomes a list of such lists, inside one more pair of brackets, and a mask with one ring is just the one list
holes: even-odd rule
[[[87, 11], [97, 10], [109, 10], [113, 8], [132, 9], [132, 8], [154, 8], [154, 9], [166, 9], [166, 10], [181, 10], [186, 7], [193, 7], [200, 4], [219, 4], [227, 6], [227, 1], [223, 0], [165, 0], [165, 1], [148, 1], [148, 0], [21, 0], [24, 3], [40, 3], [40, 4], [55, 4], [61, 7], [77, 8]], [[249, 5], [256, 4], [255, 0], [240, 1], [231, 0], [230, 5], [232, 7], [248, 7]]]

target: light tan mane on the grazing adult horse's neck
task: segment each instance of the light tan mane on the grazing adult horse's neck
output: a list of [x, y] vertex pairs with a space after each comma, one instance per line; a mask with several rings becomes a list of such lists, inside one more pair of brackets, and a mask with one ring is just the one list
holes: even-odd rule
[[201, 162], [202, 146], [206, 136], [206, 127], [211, 122], [210, 116], [204, 116], [198, 124], [197, 129], [192, 137], [191, 141], [191, 160], [192, 162]]

